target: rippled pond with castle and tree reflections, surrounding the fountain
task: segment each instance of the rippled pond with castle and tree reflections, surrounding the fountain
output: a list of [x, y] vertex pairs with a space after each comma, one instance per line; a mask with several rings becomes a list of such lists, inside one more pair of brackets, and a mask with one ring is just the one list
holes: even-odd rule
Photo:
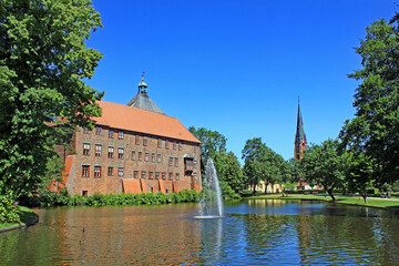
[[398, 265], [399, 215], [307, 201], [35, 209], [0, 234], [0, 265]]

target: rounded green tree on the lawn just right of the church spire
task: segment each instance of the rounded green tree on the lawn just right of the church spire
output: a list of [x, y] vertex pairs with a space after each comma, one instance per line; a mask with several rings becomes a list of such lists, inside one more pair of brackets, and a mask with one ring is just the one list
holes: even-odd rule
[[332, 190], [340, 187], [345, 178], [345, 160], [338, 152], [338, 144], [332, 140], [313, 144], [298, 164], [300, 177], [310, 185], [323, 186], [334, 202]]

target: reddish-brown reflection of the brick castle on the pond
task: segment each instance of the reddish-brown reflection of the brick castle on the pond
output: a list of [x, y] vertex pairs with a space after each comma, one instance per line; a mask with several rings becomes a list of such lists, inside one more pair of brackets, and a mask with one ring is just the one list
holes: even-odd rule
[[[73, 265], [198, 264], [202, 241], [184, 215], [195, 205], [65, 209], [63, 253]], [[119, 263], [116, 263], [119, 262]]]

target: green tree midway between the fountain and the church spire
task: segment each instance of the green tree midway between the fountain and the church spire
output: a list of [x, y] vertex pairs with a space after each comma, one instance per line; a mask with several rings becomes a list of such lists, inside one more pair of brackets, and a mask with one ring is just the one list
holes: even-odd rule
[[260, 181], [265, 182], [265, 192], [267, 185], [285, 183], [290, 178], [291, 167], [284, 161], [282, 155], [275, 153], [262, 142], [260, 137], [247, 140], [243, 149], [243, 158], [245, 160], [244, 174], [247, 184], [255, 187]]

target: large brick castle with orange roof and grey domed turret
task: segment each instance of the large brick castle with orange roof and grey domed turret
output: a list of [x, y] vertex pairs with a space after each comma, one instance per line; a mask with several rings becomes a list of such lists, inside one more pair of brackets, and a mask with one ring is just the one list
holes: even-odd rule
[[150, 99], [144, 78], [127, 105], [99, 101], [95, 129], [78, 129], [72, 149], [58, 152], [65, 161], [62, 182], [71, 195], [201, 191], [201, 142]]

